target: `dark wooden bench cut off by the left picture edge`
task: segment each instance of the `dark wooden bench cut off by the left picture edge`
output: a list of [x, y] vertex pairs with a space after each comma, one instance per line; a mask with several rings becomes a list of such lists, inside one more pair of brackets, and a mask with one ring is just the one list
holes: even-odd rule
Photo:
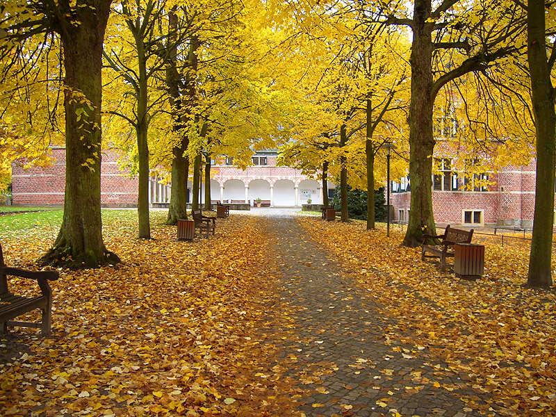
[[[35, 297], [24, 297], [10, 293], [8, 275], [11, 277], [35, 279], [42, 294]], [[59, 276], [58, 271], [30, 271], [8, 268], [4, 264], [2, 247], [0, 245], [0, 334], [7, 333], [8, 326], [19, 326], [40, 328], [42, 336], [49, 335], [52, 321], [52, 290], [48, 281], [54, 281]], [[42, 310], [42, 320], [40, 322], [12, 320], [35, 309]]]

